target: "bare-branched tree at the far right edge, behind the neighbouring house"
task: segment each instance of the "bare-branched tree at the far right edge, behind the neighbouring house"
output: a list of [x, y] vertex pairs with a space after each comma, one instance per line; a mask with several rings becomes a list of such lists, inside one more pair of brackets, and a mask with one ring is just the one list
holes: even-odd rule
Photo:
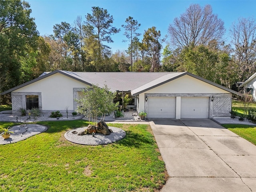
[[235, 46], [234, 66], [240, 81], [256, 72], [256, 22], [254, 18], [239, 18], [230, 28], [232, 44]]

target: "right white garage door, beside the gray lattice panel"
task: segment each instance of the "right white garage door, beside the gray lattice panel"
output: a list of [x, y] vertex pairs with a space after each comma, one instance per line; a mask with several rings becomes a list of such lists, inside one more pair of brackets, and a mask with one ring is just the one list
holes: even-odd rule
[[209, 118], [209, 97], [182, 97], [181, 118]]

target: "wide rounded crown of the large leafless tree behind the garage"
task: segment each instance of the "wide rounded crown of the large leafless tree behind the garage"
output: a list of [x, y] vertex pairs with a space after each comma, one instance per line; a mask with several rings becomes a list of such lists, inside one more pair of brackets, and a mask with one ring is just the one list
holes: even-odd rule
[[180, 18], [174, 18], [168, 32], [174, 46], [188, 47], [220, 40], [226, 30], [224, 22], [212, 13], [212, 6], [207, 4], [202, 8], [199, 4], [191, 4]]

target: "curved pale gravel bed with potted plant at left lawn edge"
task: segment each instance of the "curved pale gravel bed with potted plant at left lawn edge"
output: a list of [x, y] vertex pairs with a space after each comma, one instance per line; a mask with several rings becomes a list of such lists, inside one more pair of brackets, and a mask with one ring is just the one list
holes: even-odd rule
[[48, 128], [46, 126], [37, 124], [16, 125], [11, 127], [10, 131], [13, 131], [14, 133], [11, 133], [10, 138], [4, 139], [0, 136], [0, 144], [10, 144], [25, 140], [33, 135], [45, 132], [47, 129]]

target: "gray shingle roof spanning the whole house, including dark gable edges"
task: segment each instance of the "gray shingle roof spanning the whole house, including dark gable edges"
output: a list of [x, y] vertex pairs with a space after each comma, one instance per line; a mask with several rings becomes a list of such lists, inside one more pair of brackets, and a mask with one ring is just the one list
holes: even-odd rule
[[17, 90], [56, 73], [74, 78], [75, 80], [83, 82], [85, 85], [94, 84], [98, 85], [99, 87], [104, 87], [107, 85], [112, 92], [117, 90], [131, 91], [133, 95], [138, 95], [141, 92], [152, 89], [187, 74], [228, 92], [235, 93], [233, 90], [188, 72], [70, 72], [55, 70], [53, 72], [44, 72], [38, 78], [2, 92], [1, 95]]

